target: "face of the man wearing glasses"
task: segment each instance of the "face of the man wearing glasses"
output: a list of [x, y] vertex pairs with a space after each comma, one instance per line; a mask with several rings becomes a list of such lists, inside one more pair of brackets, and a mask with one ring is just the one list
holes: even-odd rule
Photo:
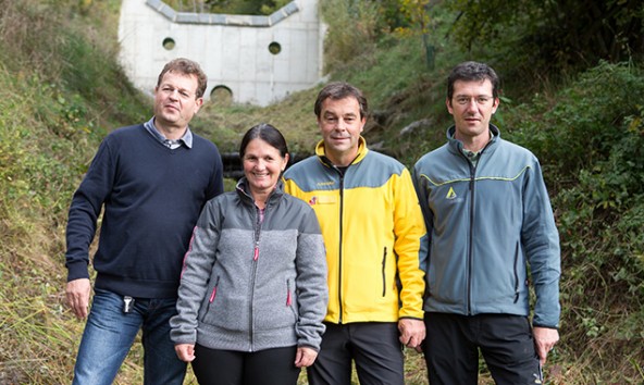
[[475, 138], [487, 135], [490, 120], [499, 100], [492, 96], [492, 83], [484, 80], [456, 80], [454, 95], [447, 100], [447, 110], [454, 116], [456, 138]]

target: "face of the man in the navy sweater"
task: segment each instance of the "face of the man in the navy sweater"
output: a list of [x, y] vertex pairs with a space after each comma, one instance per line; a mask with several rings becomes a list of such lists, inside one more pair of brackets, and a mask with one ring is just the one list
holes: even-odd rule
[[197, 77], [168, 72], [154, 88], [154, 124], [161, 131], [185, 128], [203, 103], [197, 98]]

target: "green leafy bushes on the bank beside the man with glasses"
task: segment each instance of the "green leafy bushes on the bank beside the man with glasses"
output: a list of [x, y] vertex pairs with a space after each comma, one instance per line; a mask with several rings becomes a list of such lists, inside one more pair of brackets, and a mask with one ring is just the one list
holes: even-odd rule
[[505, 121], [544, 163], [552, 187], [565, 351], [592, 368], [579, 374], [587, 382], [642, 382], [644, 73], [602, 63], [556, 95], [510, 109]]

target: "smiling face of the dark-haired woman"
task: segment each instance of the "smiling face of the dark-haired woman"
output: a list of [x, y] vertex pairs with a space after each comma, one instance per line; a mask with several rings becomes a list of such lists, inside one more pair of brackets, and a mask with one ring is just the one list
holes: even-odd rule
[[255, 196], [271, 192], [275, 188], [288, 163], [288, 154], [282, 158], [280, 150], [260, 138], [255, 138], [246, 146], [243, 162], [244, 175], [248, 179], [250, 192]]

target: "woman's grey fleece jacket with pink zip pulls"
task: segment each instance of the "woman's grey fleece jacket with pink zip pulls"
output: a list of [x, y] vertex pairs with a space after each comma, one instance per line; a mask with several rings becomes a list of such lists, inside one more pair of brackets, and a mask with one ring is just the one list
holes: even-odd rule
[[247, 191], [206, 204], [184, 260], [175, 344], [258, 351], [286, 346], [320, 349], [329, 299], [320, 225], [280, 182], [263, 222]]

